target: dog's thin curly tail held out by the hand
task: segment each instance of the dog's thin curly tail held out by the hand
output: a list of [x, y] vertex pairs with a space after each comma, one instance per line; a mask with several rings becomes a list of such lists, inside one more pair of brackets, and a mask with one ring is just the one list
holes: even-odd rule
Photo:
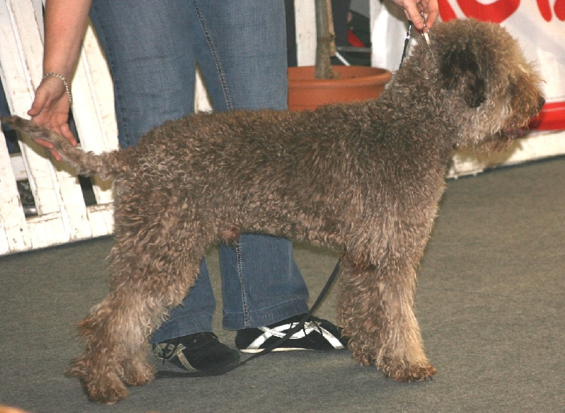
[[117, 175], [118, 165], [115, 162], [116, 160], [114, 160], [114, 152], [105, 152], [101, 155], [85, 152], [81, 148], [71, 145], [59, 133], [27, 119], [20, 118], [20, 116], [0, 116], [0, 121], [2, 124], [22, 131], [32, 139], [41, 139], [52, 143], [61, 157], [76, 169], [77, 174], [86, 176], [98, 175], [102, 179], [114, 179]]

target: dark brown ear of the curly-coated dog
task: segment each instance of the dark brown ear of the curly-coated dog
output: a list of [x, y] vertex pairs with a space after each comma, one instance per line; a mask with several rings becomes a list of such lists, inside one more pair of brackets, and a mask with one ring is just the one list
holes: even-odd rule
[[446, 89], [464, 88], [463, 99], [470, 107], [480, 107], [487, 99], [480, 64], [469, 45], [462, 44], [447, 51], [440, 71]]

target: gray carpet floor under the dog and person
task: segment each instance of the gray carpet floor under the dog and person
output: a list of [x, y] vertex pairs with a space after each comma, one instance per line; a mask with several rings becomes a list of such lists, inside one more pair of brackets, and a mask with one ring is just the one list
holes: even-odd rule
[[[113, 406], [88, 402], [62, 373], [80, 352], [74, 324], [105, 295], [112, 239], [4, 256], [0, 405], [33, 413], [565, 412], [564, 239], [564, 158], [448, 181], [417, 287], [433, 381], [394, 383], [347, 350], [291, 352], [225, 376], [154, 381]], [[314, 301], [336, 256], [302, 244], [295, 254]], [[208, 263], [218, 289], [217, 251]], [[335, 320], [334, 304], [335, 288], [318, 315]], [[216, 331], [233, 345], [220, 311]]]

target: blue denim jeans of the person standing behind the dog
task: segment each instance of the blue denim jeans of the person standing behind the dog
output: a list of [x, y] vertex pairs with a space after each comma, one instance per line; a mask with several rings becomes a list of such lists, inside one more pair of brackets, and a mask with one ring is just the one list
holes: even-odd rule
[[[194, 112], [195, 61], [215, 111], [285, 109], [283, 0], [94, 0], [90, 13], [114, 79], [119, 143]], [[308, 310], [287, 239], [242, 234], [220, 246], [223, 325], [258, 327]], [[151, 339], [212, 330], [206, 259], [183, 304]]]

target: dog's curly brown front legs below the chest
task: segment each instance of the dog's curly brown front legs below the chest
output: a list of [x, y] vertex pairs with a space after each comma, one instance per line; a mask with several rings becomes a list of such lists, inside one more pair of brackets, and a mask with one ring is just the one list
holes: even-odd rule
[[343, 259], [338, 321], [350, 337], [352, 357], [395, 381], [422, 381], [436, 373], [412, 308], [414, 284], [415, 271], [398, 263], [379, 268]]

